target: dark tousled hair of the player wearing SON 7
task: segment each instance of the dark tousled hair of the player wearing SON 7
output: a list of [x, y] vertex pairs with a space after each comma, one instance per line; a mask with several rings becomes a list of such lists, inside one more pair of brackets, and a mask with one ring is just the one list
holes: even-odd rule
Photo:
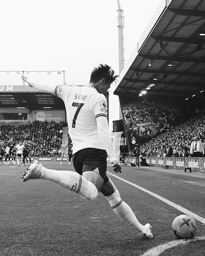
[[101, 79], [105, 79], [105, 82], [113, 83], [117, 77], [114, 76], [115, 72], [111, 69], [110, 66], [106, 64], [100, 64], [98, 67], [94, 67], [94, 70], [91, 73], [90, 76], [90, 83], [94, 82], [97, 83]]

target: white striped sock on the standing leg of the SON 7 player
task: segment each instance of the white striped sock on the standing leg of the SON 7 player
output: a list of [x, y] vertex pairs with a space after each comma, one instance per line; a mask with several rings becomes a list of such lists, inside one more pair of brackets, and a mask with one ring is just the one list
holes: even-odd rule
[[106, 198], [109, 201], [112, 210], [118, 217], [137, 230], [140, 235], [147, 232], [147, 229], [140, 224], [129, 205], [120, 198], [120, 194], [117, 189], [112, 195], [107, 196]]

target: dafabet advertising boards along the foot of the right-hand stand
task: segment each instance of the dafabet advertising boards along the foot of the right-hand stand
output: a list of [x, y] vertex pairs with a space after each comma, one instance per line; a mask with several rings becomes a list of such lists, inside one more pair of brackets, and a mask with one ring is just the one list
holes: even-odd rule
[[[136, 157], [125, 157], [131, 163]], [[162, 167], [169, 165], [170, 169], [184, 170], [190, 167], [193, 172], [205, 173], [205, 157], [146, 157], [146, 162], [151, 166]]]

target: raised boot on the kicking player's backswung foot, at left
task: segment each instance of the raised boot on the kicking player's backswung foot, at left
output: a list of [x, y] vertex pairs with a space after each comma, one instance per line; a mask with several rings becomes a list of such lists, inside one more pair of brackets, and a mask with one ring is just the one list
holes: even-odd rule
[[39, 179], [41, 177], [42, 164], [39, 161], [34, 160], [34, 162], [27, 168], [23, 176], [21, 177], [23, 181], [29, 179]]

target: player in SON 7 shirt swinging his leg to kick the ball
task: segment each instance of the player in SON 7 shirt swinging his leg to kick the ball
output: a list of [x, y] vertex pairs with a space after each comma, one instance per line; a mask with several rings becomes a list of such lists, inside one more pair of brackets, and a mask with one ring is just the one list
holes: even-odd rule
[[22, 79], [38, 90], [52, 93], [65, 103], [69, 135], [73, 142], [73, 165], [76, 172], [46, 169], [34, 161], [22, 179], [47, 179], [93, 201], [101, 192], [112, 210], [142, 237], [153, 238], [149, 223], [142, 225], [125, 203], [114, 183], [108, 178], [106, 158], [109, 155], [114, 172], [122, 172], [111, 142], [107, 121], [107, 102], [104, 94], [116, 80], [108, 65], [95, 67], [90, 82], [83, 87], [55, 86]]

